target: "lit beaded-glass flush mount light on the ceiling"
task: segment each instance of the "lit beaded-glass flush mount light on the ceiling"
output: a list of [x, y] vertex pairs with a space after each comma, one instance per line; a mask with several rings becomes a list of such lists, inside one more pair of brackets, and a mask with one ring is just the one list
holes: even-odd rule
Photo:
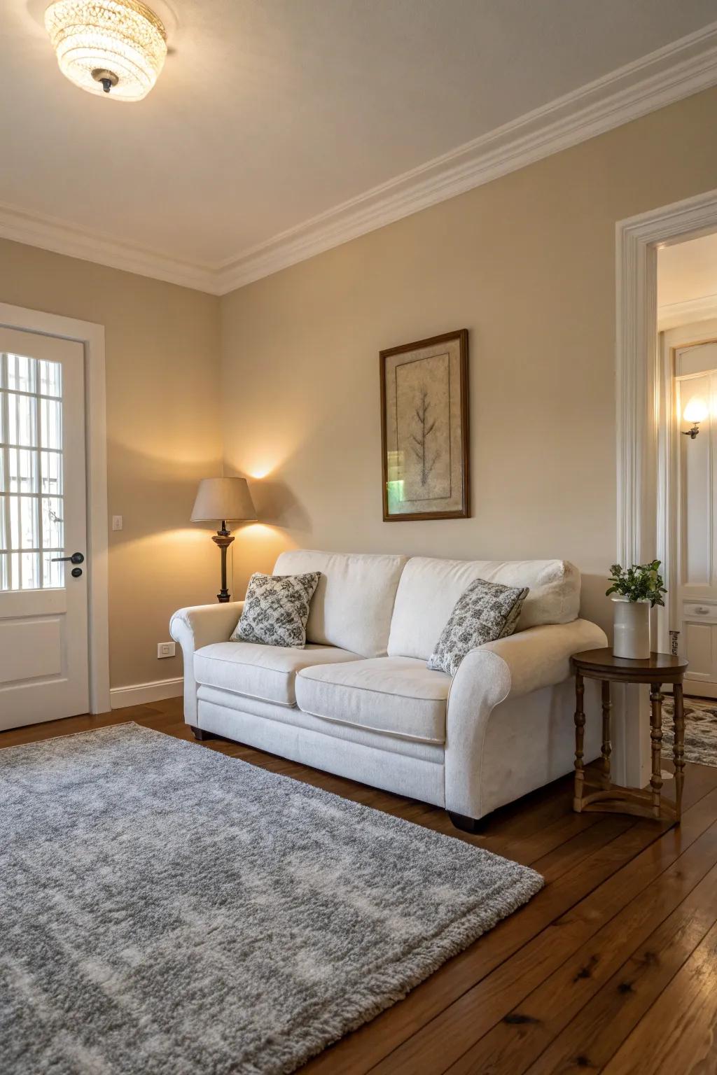
[[45, 27], [60, 71], [89, 94], [141, 101], [167, 56], [167, 33], [140, 0], [57, 0]]

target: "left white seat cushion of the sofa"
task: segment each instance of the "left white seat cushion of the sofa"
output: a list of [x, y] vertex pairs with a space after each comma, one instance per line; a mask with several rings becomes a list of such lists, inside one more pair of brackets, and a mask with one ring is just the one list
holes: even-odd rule
[[195, 654], [195, 679], [276, 705], [296, 705], [295, 679], [307, 664], [358, 661], [335, 646], [264, 646], [259, 642], [214, 642]]

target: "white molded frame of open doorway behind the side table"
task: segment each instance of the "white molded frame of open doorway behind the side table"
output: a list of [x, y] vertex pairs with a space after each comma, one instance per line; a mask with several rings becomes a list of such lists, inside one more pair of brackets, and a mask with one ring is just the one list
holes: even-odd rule
[[[659, 246], [717, 231], [717, 190], [709, 190], [615, 226], [616, 255], [616, 458], [617, 559], [640, 563], [655, 556], [668, 573], [673, 549], [658, 499], [661, 348], [658, 341], [657, 250]], [[649, 774], [647, 692], [629, 688], [640, 719], [623, 725], [631, 783]], [[625, 710], [622, 710], [625, 719]]]

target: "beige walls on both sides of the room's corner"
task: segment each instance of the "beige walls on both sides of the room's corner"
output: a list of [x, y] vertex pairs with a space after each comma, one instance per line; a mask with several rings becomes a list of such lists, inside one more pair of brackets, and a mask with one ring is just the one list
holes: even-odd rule
[[[717, 186], [716, 113], [709, 90], [223, 300], [0, 241], [0, 301], [105, 326], [112, 685], [180, 675], [156, 644], [214, 600], [188, 516], [221, 411], [262, 518], [238, 534], [236, 592], [291, 545], [560, 556], [606, 622], [615, 221]], [[378, 352], [463, 327], [473, 518], [383, 522]]]

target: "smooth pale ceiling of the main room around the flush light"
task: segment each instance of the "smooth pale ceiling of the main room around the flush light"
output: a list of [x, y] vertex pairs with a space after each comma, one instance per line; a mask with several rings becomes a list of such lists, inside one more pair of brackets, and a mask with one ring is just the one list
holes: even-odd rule
[[129, 104], [60, 74], [46, 2], [0, 0], [0, 209], [35, 245], [77, 229], [212, 271], [715, 17], [714, 0], [149, 0], [170, 55]]

